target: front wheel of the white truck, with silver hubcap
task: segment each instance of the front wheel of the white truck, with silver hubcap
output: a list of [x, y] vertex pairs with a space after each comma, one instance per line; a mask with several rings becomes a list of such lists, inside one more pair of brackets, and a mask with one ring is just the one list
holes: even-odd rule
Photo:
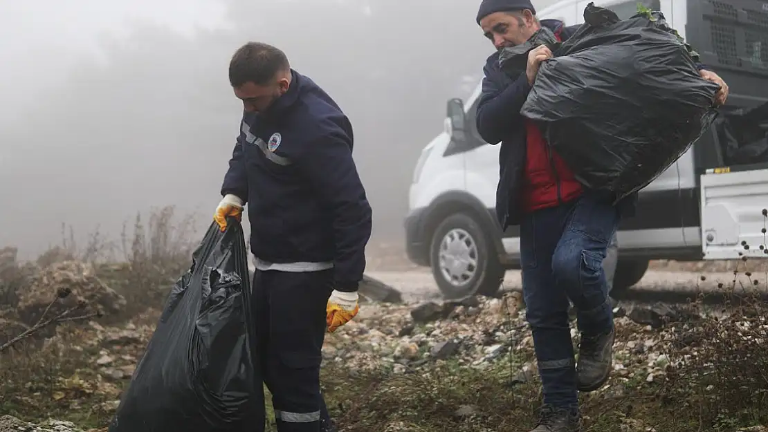
[[505, 270], [480, 224], [466, 213], [445, 218], [435, 229], [429, 248], [432, 275], [443, 297], [495, 295]]

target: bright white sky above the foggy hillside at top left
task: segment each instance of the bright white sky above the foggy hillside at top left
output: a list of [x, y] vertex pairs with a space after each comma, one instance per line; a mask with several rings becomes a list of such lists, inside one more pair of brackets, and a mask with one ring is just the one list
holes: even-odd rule
[[[66, 5], [64, 7], [63, 5]], [[31, 104], [78, 55], [101, 58], [104, 38], [125, 38], [131, 23], [151, 21], [191, 35], [227, 25], [218, 0], [36, 0], [0, 2], [0, 94], [4, 107]], [[45, 71], [41, 71], [45, 68]], [[18, 91], [20, 87], [29, 92]], [[31, 94], [30, 94], [31, 93]], [[3, 110], [5, 124], [18, 110]], [[10, 118], [9, 118], [10, 117]]]

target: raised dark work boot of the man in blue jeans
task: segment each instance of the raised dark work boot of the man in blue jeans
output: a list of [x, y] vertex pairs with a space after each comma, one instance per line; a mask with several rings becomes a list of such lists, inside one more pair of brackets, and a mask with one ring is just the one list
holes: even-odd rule
[[581, 334], [576, 363], [576, 386], [579, 391], [598, 390], [608, 381], [613, 365], [614, 336], [614, 328], [597, 336]]

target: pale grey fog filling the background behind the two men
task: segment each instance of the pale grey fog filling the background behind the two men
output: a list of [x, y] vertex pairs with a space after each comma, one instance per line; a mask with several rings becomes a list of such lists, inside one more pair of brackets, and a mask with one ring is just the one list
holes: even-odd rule
[[[537, 8], [553, 3], [535, 2]], [[211, 221], [240, 130], [233, 51], [263, 41], [339, 103], [373, 208], [402, 242], [419, 153], [493, 51], [479, 0], [0, 2], [0, 247], [30, 257], [137, 212]], [[490, 169], [497, 169], [490, 167]]]

